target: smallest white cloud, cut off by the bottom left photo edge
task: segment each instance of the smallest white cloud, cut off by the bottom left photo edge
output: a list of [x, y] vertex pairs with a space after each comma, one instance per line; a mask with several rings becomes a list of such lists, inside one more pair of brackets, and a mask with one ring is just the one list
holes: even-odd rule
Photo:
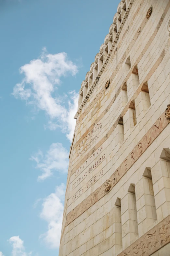
[[20, 236], [12, 236], [9, 240], [12, 245], [12, 256], [31, 256], [32, 252], [26, 253], [23, 240]]

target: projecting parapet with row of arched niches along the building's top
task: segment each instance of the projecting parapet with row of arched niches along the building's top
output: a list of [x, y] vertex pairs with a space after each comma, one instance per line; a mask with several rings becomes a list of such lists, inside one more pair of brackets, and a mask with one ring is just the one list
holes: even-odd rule
[[109, 28], [109, 33], [106, 35], [104, 43], [100, 46], [99, 53], [96, 54], [94, 62], [90, 66], [90, 71], [86, 74], [85, 80], [81, 83], [78, 111], [74, 117], [75, 119], [77, 119], [78, 114], [106, 67], [133, 2], [134, 0], [121, 0], [118, 5], [117, 13], [114, 15], [113, 23]]

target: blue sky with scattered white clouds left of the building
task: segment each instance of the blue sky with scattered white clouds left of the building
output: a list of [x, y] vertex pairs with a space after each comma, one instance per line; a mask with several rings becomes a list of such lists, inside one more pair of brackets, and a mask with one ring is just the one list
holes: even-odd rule
[[56, 256], [81, 82], [119, 1], [0, 0], [0, 256]]

